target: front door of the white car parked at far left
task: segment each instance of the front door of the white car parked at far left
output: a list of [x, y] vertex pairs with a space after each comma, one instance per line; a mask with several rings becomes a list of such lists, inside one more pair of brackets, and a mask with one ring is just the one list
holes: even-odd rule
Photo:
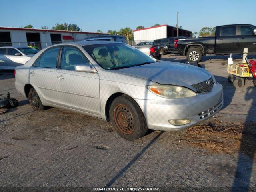
[[21, 54], [14, 48], [7, 49], [6, 57], [8, 58], [8, 68], [10, 69], [14, 69], [16, 66], [24, 64], [24, 56], [22, 54], [20, 56], [16, 56], [16, 53]]

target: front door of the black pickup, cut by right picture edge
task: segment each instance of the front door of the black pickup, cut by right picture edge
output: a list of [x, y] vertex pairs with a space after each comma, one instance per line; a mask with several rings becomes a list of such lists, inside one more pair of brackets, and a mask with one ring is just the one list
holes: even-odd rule
[[241, 25], [239, 32], [239, 50], [242, 53], [248, 48], [248, 53], [256, 53], [256, 36], [252, 35], [254, 28], [249, 25]]

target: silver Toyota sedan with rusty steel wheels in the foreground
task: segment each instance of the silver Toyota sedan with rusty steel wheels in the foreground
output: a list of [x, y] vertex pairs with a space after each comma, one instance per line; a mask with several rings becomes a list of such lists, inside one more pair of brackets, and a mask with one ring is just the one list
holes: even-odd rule
[[222, 85], [207, 70], [158, 61], [106, 41], [57, 44], [16, 67], [16, 89], [34, 110], [52, 106], [111, 121], [127, 140], [182, 130], [216, 114]]

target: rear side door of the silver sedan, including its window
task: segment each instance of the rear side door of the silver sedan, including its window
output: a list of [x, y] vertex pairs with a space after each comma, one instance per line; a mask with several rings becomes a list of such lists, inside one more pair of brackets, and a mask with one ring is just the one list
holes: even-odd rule
[[60, 46], [46, 50], [32, 65], [29, 82], [36, 89], [41, 101], [56, 104], [57, 95], [57, 61]]

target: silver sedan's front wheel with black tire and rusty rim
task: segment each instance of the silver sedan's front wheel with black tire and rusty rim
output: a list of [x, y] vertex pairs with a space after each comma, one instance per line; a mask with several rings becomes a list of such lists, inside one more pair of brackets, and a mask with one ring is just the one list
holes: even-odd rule
[[126, 140], [136, 140], [148, 131], [140, 106], [129, 96], [114, 99], [110, 106], [110, 120], [116, 132]]

